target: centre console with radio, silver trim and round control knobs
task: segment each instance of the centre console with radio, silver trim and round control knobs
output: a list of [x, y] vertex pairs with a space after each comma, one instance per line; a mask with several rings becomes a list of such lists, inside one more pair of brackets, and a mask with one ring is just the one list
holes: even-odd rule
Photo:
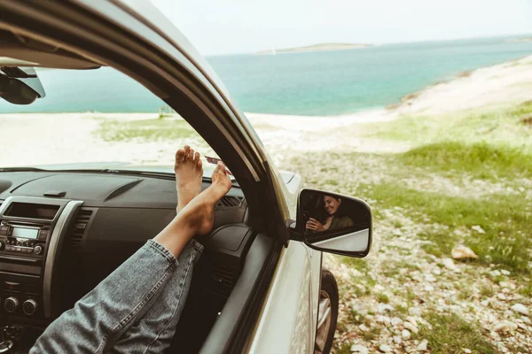
[[82, 201], [9, 196], [0, 205], [0, 322], [51, 319], [63, 240]]

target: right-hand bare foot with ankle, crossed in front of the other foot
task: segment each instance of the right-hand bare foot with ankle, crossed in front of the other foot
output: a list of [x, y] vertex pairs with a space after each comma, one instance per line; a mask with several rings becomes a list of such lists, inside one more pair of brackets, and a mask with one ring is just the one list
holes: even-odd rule
[[187, 204], [181, 212], [198, 235], [206, 235], [213, 228], [215, 204], [231, 189], [225, 165], [219, 162], [212, 175], [211, 185]]

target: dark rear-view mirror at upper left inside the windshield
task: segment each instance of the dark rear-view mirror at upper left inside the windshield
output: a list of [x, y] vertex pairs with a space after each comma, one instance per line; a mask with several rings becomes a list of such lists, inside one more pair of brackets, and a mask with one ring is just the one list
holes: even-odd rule
[[32, 104], [44, 97], [43, 84], [31, 67], [1, 66], [0, 97], [12, 104]]

